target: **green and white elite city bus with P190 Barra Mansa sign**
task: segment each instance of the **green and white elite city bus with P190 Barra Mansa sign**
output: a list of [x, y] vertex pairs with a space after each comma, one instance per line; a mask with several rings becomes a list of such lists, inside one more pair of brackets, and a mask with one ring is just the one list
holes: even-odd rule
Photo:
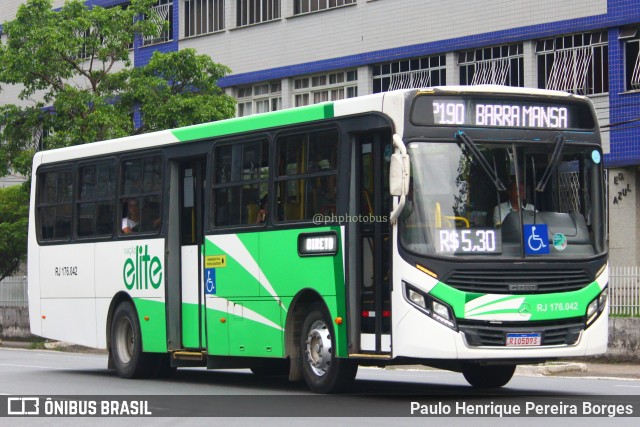
[[29, 314], [121, 377], [250, 368], [348, 385], [424, 364], [500, 387], [605, 352], [591, 102], [408, 89], [42, 151]]

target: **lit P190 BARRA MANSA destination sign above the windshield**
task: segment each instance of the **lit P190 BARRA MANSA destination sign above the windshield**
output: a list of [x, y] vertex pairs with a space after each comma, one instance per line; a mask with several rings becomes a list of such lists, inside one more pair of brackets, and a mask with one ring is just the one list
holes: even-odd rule
[[471, 96], [419, 96], [411, 121], [429, 126], [527, 129], [593, 129], [595, 126], [590, 108], [582, 103]]

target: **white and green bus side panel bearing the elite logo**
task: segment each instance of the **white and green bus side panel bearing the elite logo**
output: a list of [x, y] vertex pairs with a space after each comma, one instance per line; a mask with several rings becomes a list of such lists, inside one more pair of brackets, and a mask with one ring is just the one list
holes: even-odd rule
[[126, 292], [133, 299], [138, 312], [143, 350], [167, 351], [164, 253], [164, 239], [96, 244], [95, 294], [101, 348], [103, 343], [106, 344], [109, 305], [118, 292]]

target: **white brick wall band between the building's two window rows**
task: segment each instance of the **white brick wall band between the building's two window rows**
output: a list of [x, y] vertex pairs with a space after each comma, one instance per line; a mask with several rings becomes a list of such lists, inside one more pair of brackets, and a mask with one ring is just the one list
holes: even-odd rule
[[235, 29], [227, 12], [226, 31], [181, 40], [180, 47], [194, 47], [244, 73], [592, 16], [606, 8], [606, 0], [359, 0], [304, 16], [288, 15], [292, 9], [283, 7], [278, 21]]

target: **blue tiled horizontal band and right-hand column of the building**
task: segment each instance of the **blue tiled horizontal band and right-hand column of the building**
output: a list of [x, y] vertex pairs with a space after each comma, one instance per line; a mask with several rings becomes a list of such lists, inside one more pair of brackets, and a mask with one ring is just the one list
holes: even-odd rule
[[[535, 40], [561, 34], [609, 28], [609, 114], [610, 122], [616, 124], [640, 119], [640, 93], [624, 93], [624, 43], [618, 40], [618, 27], [629, 24], [640, 25], [640, 0], [609, 0], [607, 13], [603, 15], [234, 74], [222, 78], [219, 84], [222, 87], [251, 84], [481, 46]], [[605, 155], [605, 164], [607, 166], [640, 164], [640, 121], [625, 125], [614, 125], [611, 127], [610, 132], [611, 152]]]

